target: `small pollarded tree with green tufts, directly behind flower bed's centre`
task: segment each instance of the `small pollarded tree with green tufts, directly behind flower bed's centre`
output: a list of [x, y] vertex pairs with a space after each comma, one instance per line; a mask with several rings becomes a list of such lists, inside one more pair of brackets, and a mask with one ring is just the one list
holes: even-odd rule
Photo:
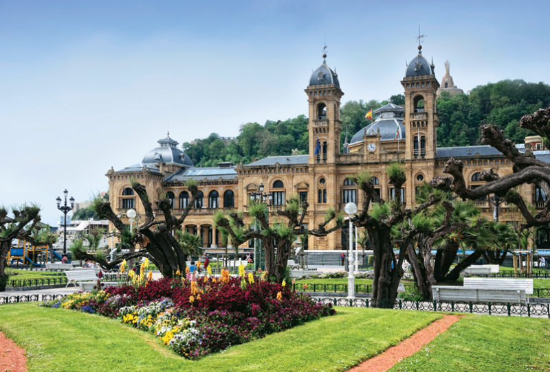
[[[325, 221], [320, 223], [317, 229], [305, 229], [304, 218], [307, 216], [307, 207], [309, 204], [305, 200], [300, 202], [298, 196], [291, 196], [287, 200], [285, 209], [277, 211], [277, 216], [285, 218], [287, 223], [276, 223], [270, 226], [267, 221], [267, 213], [269, 213], [267, 205], [250, 200], [248, 211], [250, 216], [259, 222], [261, 231], [253, 229], [252, 226], [245, 227], [242, 212], [231, 213], [228, 217], [219, 212], [214, 216], [214, 222], [220, 229], [227, 231], [235, 246], [240, 246], [251, 239], [261, 240], [265, 251], [267, 275], [275, 277], [277, 283], [281, 283], [285, 279], [292, 242], [296, 240], [297, 236], [306, 233], [314, 236], [326, 236], [342, 227], [342, 216], [330, 209], [325, 215]], [[332, 220], [336, 220], [336, 224], [327, 228]]]

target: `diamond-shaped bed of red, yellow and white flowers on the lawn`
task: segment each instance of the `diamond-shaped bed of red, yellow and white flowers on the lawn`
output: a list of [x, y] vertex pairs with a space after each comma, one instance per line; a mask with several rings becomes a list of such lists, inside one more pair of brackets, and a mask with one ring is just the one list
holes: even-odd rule
[[[137, 275], [136, 278], [139, 278]], [[133, 281], [92, 293], [78, 292], [43, 303], [111, 318], [155, 334], [170, 349], [197, 359], [267, 334], [334, 314], [331, 305], [263, 281], [241, 270], [239, 278], [196, 281], [177, 277]]]

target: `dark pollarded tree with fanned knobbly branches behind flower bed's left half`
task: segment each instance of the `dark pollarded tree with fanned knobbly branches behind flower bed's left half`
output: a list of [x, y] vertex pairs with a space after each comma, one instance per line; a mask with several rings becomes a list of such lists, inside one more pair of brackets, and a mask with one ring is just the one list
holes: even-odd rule
[[[100, 218], [107, 218], [111, 221], [117, 230], [117, 235], [121, 238], [122, 244], [128, 246], [129, 253], [120, 255], [112, 261], [107, 261], [107, 258], [102, 253], [91, 255], [85, 251], [76, 251], [75, 255], [78, 259], [92, 259], [103, 268], [109, 269], [120, 264], [122, 260], [134, 259], [137, 257], [146, 257], [151, 261], [164, 277], [173, 277], [175, 272], [179, 270], [184, 272], [186, 268], [186, 255], [196, 247], [190, 247], [189, 244], [197, 244], [197, 240], [184, 235], [173, 235], [173, 231], [180, 229], [189, 211], [195, 205], [199, 191], [197, 183], [188, 181], [186, 187], [191, 193], [191, 200], [179, 218], [172, 215], [172, 204], [166, 195], [162, 196], [155, 203], [157, 208], [162, 211], [164, 220], [155, 220], [153, 214], [153, 205], [149, 200], [145, 186], [135, 180], [131, 181], [132, 189], [139, 196], [145, 211], [144, 222], [135, 227], [133, 232], [129, 231], [129, 227], [118, 218], [111, 204], [102, 199], [94, 200], [94, 209]], [[178, 240], [179, 239], [179, 240]], [[140, 251], [135, 251], [137, 244], [142, 248]]]

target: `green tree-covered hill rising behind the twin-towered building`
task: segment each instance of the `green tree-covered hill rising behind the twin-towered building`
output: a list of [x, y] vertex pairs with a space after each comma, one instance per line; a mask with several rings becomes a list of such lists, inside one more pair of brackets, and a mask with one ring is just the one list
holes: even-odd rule
[[[392, 95], [393, 104], [404, 105], [402, 94]], [[367, 111], [384, 106], [388, 101], [349, 101], [340, 108], [344, 143], [346, 132], [351, 139], [370, 122], [364, 119]], [[529, 131], [518, 121], [522, 115], [550, 106], [550, 86], [542, 82], [502, 80], [476, 86], [468, 95], [450, 96], [443, 93], [437, 100], [439, 128], [438, 146], [467, 146], [479, 143], [479, 126], [496, 124], [505, 130], [507, 138], [522, 143]], [[307, 117], [299, 115], [284, 121], [267, 120], [264, 125], [247, 123], [241, 126], [234, 139], [212, 133], [205, 139], [183, 144], [184, 151], [196, 166], [216, 166], [222, 161], [250, 163], [265, 156], [307, 154]]]

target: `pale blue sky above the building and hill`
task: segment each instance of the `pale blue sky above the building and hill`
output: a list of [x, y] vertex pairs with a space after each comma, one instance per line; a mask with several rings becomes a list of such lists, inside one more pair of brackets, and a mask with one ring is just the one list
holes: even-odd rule
[[349, 100], [387, 100], [417, 54], [467, 92], [550, 83], [550, 1], [1, 1], [0, 205], [107, 191], [157, 139], [239, 135], [307, 114], [327, 63]]

